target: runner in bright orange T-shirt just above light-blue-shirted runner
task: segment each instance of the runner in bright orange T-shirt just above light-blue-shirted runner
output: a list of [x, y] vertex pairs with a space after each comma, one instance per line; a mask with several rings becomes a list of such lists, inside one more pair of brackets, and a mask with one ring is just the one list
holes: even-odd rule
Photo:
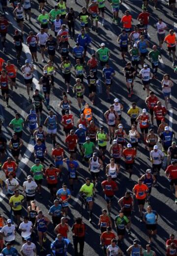
[[143, 222], [143, 208], [145, 205], [145, 200], [147, 197], [148, 186], [143, 184], [141, 179], [138, 179], [138, 184], [133, 188], [133, 194], [136, 196], [139, 213], [140, 213], [140, 222]]

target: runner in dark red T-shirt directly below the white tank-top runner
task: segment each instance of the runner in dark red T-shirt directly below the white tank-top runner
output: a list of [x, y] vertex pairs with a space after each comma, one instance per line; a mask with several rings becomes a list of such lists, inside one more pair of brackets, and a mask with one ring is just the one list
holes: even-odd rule
[[111, 215], [111, 202], [114, 199], [115, 192], [118, 191], [118, 185], [114, 180], [112, 180], [111, 175], [108, 174], [107, 180], [104, 180], [101, 183], [101, 187], [105, 194], [105, 200], [107, 202], [107, 209], [108, 209], [109, 216], [110, 216]]

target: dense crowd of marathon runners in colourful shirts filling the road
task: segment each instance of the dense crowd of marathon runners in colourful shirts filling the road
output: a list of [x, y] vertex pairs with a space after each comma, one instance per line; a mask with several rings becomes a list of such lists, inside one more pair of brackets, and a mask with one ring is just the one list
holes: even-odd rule
[[[13, 26], [6, 18], [7, 1], [0, 0], [2, 11], [0, 15], [0, 35], [2, 51], [8, 57], [6, 35], [9, 26]], [[129, 10], [125, 11], [122, 17], [118, 17], [119, 6], [122, 0], [110, 0], [112, 6], [113, 22], [120, 26], [121, 33], [118, 35], [117, 45], [124, 61], [123, 73], [127, 97], [134, 94], [134, 79], [142, 81], [142, 88], [147, 97], [144, 101], [147, 105], [140, 111], [136, 102], [131, 102], [128, 111], [124, 110], [123, 103], [118, 98], [111, 100], [110, 90], [116, 72], [110, 61], [112, 49], [107, 47], [107, 42], [102, 42], [100, 48], [88, 59], [88, 48], [92, 42], [89, 30], [99, 32], [99, 26], [105, 26], [105, 0], [86, 0], [85, 6], [79, 15], [76, 15], [77, 1], [74, 8], [67, 8], [66, 1], [58, 0], [53, 9], [48, 13], [45, 10], [47, 2], [38, 0], [39, 16], [36, 22], [40, 24], [39, 32], [29, 32], [24, 40], [24, 20], [28, 21], [29, 27], [32, 23], [30, 0], [9, 0], [11, 4], [10, 15], [14, 16], [19, 30], [13, 35], [16, 60], [0, 58], [0, 88], [1, 102], [9, 107], [11, 100], [9, 94], [17, 89], [16, 77], [19, 69], [24, 75], [24, 84], [27, 88], [29, 102], [33, 107], [26, 117], [15, 113], [14, 118], [8, 124], [13, 130], [10, 140], [2, 132], [3, 123], [0, 122], [0, 165], [1, 172], [4, 172], [4, 179], [0, 180], [1, 189], [5, 189], [6, 197], [9, 200], [9, 216], [4, 218], [0, 215], [0, 256], [34, 256], [37, 255], [36, 244], [40, 245], [40, 252], [45, 254], [45, 242], [47, 240], [48, 225], [53, 224], [53, 235], [56, 239], [51, 244], [51, 255], [65, 256], [71, 243], [74, 246], [74, 255], [84, 255], [84, 245], [87, 232], [83, 211], [88, 212], [89, 222], [92, 222], [93, 213], [99, 219], [100, 246], [103, 247], [102, 255], [106, 256], [155, 256], [155, 249], [151, 249], [153, 237], [157, 234], [158, 213], [156, 206], [151, 204], [150, 195], [152, 188], [158, 186], [159, 174], [163, 160], [167, 159], [165, 175], [166, 186], [170, 187], [174, 202], [177, 204], [177, 143], [175, 133], [169, 127], [169, 120], [166, 116], [170, 109], [170, 96], [174, 82], [170, 75], [163, 70], [161, 90], [164, 96], [165, 106], [157, 98], [155, 92], [149, 90], [151, 79], [158, 77], [158, 65], [166, 51], [167, 44], [170, 60], [174, 72], [176, 66], [176, 44], [177, 37], [174, 30], [159, 18], [154, 24], [157, 29], [158, 45], [150, 46], [148, 37], [148, 22], [152, 14], [148, 12], [148, 0], [143, 0], [142, 12], [138, 15], [137, 24], [132, 25], [132, 15]], [[169, 0], [172, 6], [172, 15], [175, 15], [175, 0]], [[154, 0], [154, 8], [158, 3]], [[12, 10], [13, 9], [13, 10]], [[135, 18], [135, 17], [133, 17]], [[76, 36], [75, 23], [79, 21], [81, 31]], [[98, 22], [98, 21], [101, 22]], [[51, 31], [49, 33], [49, 28]], [[71, 40], [75, 46], [71, 49]], [[21, 61], [24, 54], [23, 44], [29, 47], [31, 59], [25, 63]], [[38, 52], [39, 50], [39, 52]], [[61, 115], [56, 114], [50, 106], [50, 93], [55, 94], [55, 75], [59, 71], [56, 67], [56, 53], [60, 54], [60, 70], [62, 71], [65, 88], [63, 94], [59, 95], [59, 108]], [[33, 74], [36, 72], [35, 65], [38, 65], [38, 56], [42, 60], [43, 75], [39, 81], [33, 81]], [[172, 54], [172, 57], [171, 57]], [[75, 61], [71, 61], [71, 56]], [[150, 60], [151, 67], [146, 60]], [[109, 109], [103, 113], [104, 123], [107, 128], [99, 124], [95, 119], [92, 105], [96, 105], [98, 87], [101, 83], [97, 77], [97, 70], [102, 72], [103, 84], [106, 88], [103, 93], [107, 95], [110, 102]], [[74, 73], [75, 84], [70, 81]], [[37, 88], [40, 88], [38, 90]], [[89, 95], [87, 90], [89, 90]], [[74, 94], [78, 102], [78, 116], [71, 112], [72, 103], [68, 99], [69, 94]], [[90, 99], [90, 105], [86, 102], [86, 96]], [[6, 103], [3, 103], [5, 101]], [[44, 120], [43, 109], [47, 108], [48, 116]], [[101, 109], [100, 109], [101, 111]], [[121, 114], [126, 112], [130, 125], [129, 129], [124, 128]], [[5, 118], [5, 117], [4, 117]], [[30, 173], [27, 173], [26, 181], [16, 177], [18, 166], [21, 162], [21, 152], [24, 149], [24, 125], [28, 124], [29, 139], [34, 141]], [[59, 126], [63, 128], [64, 150], [57, 141]], [[46, 146], [47, 142], [53, 145], [52, 151]], [[139, 143], [143, 142], [147, 150], [147, 159], [150, 159], [151, 166], [145, 174], [137, 179], [133, 185], [132, 175], [139, 151]], [[157, 145], [158, 144], [158, 145]], [[7, 153], [8, 150], [8, 153]], [[66, 154], [67, 153], [67, 154]], [[67, 158], [66, 155], [69, 154]], [[52, 162], [46, 163], [50, 156]], [[107, 160], [109, 159], [109, 163]], [[75, 187], [80, 183], [79, 168], [80, 162], [84, 163], [87, 170], [85, 183], [80, 187], [80, 201], [82, 204], [81, 217], [76, 218], [75, 223], [68, 222], [70, 215], [70, 201]], [[63, 165], [67, 166], [67, 180], [63, 182]], [[112, 216], [113, 199], [117, 191], [120, 191], [119, 181], [122, 176], [122, 169], [128, 173], [127, 183], [132, 183], [132, 191], [127, 190], [118, 199], [117, 216]], [[101, 170], [104, 171], [102, 177]], [[46, 182], [44, 181], [46, 180]], [[169, 181], [169, 182], [168, 182]], [[94, 211], [94, 204], [97, 202], [96, 187], [101, 184], [105, 209], [102, 214]], [[23, 187], [23, 192], [20, 190]], [[44, 215], [37, 205], [36, 194], [42, 202], [44, 199], [43, 188], [46, 187], [51, 194], [52, 206], [48, 214]], [[45, 205], [45, 201], [43, 201]], [[142, 248], [141, 241], [133, 240], [133, 244], [122, 252], [124, 236], [132, 234], [131, 214], [134, 204], [138, 205], [139, 212], [134, 214], [139, 217], [140, 222], [146, 224], [148, 240], [146, 248]], [[83, 208], [84, 207], [84, 208]], [[22, 215], [22, 209], [26, 209], [26, 215]], [[0, 211], [2, 213], [2, 210]], [[72, 226], [72, 227], [70, 227]], [[168, 230], [167, 230], [168, 231]], [[15, 246], [16, 232], [22, 237], [21, 251]], [[73, 234], [73, 241], [68, 239], [68, 232]], [[78, 248], [79, 245], [79, 248]], [[98, 245], [99, 246], [99, 245]], [[177, 256], [177, 239], [174, 234], [169, 234], [169, 239], [164, 241], [167, 256]], [[49, 251], [50, 248], [48, 248]]]

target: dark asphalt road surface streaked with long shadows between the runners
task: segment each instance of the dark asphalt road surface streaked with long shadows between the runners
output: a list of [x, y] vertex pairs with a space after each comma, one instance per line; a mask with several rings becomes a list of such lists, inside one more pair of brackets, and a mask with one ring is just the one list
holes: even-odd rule
[[[45, 9], [46, 11], [50, 11], [51, 8], [55, 5], [56, 1], [54, 0], [48, 0], [49, 4], [46, 5]], [[68, 7], [73, 7], [76, 11], [76, 14], [80, 12], [82, 6], [85, 6], [85, 1], [78, 0], [78, 3], [76, 4], [74, 0], [70, 0], [67, 2]], [[123, 3], [120, 7], [119, 11], [119, 17], [121, 18], [124, 11], [128, 8], [131, 10], [131, 15], [134, 18], [134, 24], [137, 24], [137, 16], [141, 12], [141, 1], [126, 1], [126, 3]], [[158, 2], [158, 9], [154, 10], [152, 3], [149, 3], [148, 11], [150, 13], [149, 18], [149, 41], [150, 46], [153, 44], [157, 44], [157, 35], [155, 30], [155, 24], [158, 21], [159, 17], [162, 17], [164, 22], [167, 24], [169, 29], [176, 28], [176, 19], [177, 17], [171, 16], [171, 10], [167, 6], [166, 2], [159, 1]], [[25, 35], [24, 39], [27, 38], [29, 31], [34, 31], [35, 33], [39, 32], [39, 24], [36, 22], [36, 18], [38, 17], [38, 4], [37, 1], [32, 1], [32, 24], [29, 24], [28, 22], [25, 22]], [[16, 63], [15, 58], [15, 49], [12, 43], [12, 36], [14, 33], [14, 30], [16, 29], [16, 22], [12, 16], [12, 8], [8, 6], [8, 13], [6, 15], [7, 19], [11, 22], [11, 25], [9, 27], [9, 34], [7, 35], [7, 53], [4, 55], [2, 51], [0, 51], [0, 57], [4, 58], [5, 61], [8, 59], [12, 60], [14, 64]], [[114, 78], [114, 83], [111, 88], [111, 102], [113, 102], [115, 97], [118, 97], [120, 99], [120, 102], [124, 106], [124, 111], [122, 114], [122, 123], [124, 125], [124, 128], [126, 131], [130, 128], [130, 120], [126, 114], [129, 106], [131, 105], [131, 102], [136, 101], [137, 105], [140, 107], [140, 109], [143, 109], [146, 107], [145, 105], [145, 99], [146, 99], [146, 93], [142, 90], [141, 81], [139, 78], [136, 78], [134, 83], [134, 95], [131, 97], [131, 99], [127, 98], [127, 91], [126, 91], [126, 85], [125, 85], [125, 79], [123, 76], [122, 69], [124, 67], [124, 63], [121, 60], [121, 54], [119, 51], [117, 38], [118, 34], [121, 31], [121, 25], [115, 25], [112, 23], [112, 11], [110, 7], [109, 1], [106, 1], [106, 15], [105, 15], [106, 23], [105, 27], [103, 28], [101, 24], [99, 23], [99, 33], [96, 34], [95, 32], [90, 31], [89, 34], [92, 38], [92, 42], [89, 46], [88, 50], [88, 56], [90, 54], [97, 50], [100, 46], [100, 43], [104, 42], [106, 46], [111, 50], [111, 59], [110, 59], [110, 65], [115, 69], [116, 76]], [[79, 32], [79, 23], [76, 21], [76, 33]], [[49, 31], [49, 33], [52, 33], [52, 31]], [[71, 48], [74, 47], [75, 42], [74, 40], [69, 40], [69, 43], [71, 45]], [[1, 47], [1, 46], [0, 46]], [[172, 67], [172, 62], [169, 60], [168, 53], [166, 50], [166, 46], [163, 46], [164, 50], [162, 52], [162, 63], [159, 65], [158, 69], [158, 79], [152, 80], [150, 89], [153, 90], [164, 104], [164, 98], [161, 91], [161, 79], [164, 73], [169, 73], [172, 80], [175, 82], [175, 86], [172, 89], [172, 98], [171, 98], [171, 107], [170, 111], [168, 112], [166, 118], [170, 125], [170, 127], [176, 132], [177, 131], [177, 90], [176, 90], [176, 80], [175, 80], [175, 73], [174, 69]], [[2, 49], [2, 48], [0, 48]], [[22, 64], [25, 63], [25, 60], [29, 58], [29, 51], [27, 51], [27, 47], [23, 49], [23, 55], [22, 55]], [[44, 64], [41, 62], [41, 55], [38, 52], [38, 63], [35, 65], [36, 72], [34, 74], [34, 84], [33, 88], [39, 85], [37, 84], [37, 80], [42, 75], [42, 67]], [[47, 57], [46, 57], [47, 60]], [[71, 56], [72, 62], [73, 57]], [[130, 60], [129, 56], [126, 57], [126, 60]], [[146, 62], [149, 64], [148, 60]], [[73, 62], [74, 63], [74, 62]], [[57, 53], [57, 58], [55, 60], [55, 66], [57, 69], [57, 74], [55, 77], [55, 91], [54, 93], [51, 93], [51, 101], [50, 105], [52, 109], [54, 110], [55, 114], [57, 115], [59, 122], [61, 119], [60, 109], [59, 109], [59, 102], [62, 98], [62, 91], [66, 90], [66, 86], [63, 82], [63, 78], [61, 76], [61, 71], [59, 70], [59, 53]], [[10, 107], [6, 108], [4, 105], [4, 102], [2, 101], [2, 97], [0, 96], [0, 115], [3, 117], [3, 134], [6, 136], [7, 139], [9, 139], [12, 135], [12, 129], [8, 128], [9, 122], [14, 118], [15, 112], [19, 112], [21, 116], [25, 119], [27, 114], [29, 114], [29, 109], [31, 108], [31, 104], [27, 100], [27, 92], [25, 85], [23, 83], [23, 75], [20, 70], [20, 66], [18, 66], [18, 75], [17, 75], [17, 85], [18, 89], [13, 92], [10, 96], [9, 104]], [[101, 67], [99, 67], [98, 76], [101, 79]], [[71, 85], [74, 85], [74, 78], [72, 76]], [[85, 101], [89, 102], [89, 93], [88, 90], [86, 90], [85, 95]], [[32, 93], [31, 93], [32, 96]], [[79, 111], [78, 111], [78, 104], [75, 96], [73, 93], [68, 96], [68, 98], [72, 102], [71, 112], [74, 115], [75, 125], [77, 122], [77, 119], [79, 118]], [[105, 94], [105, 88], [104, 85], [101, 84], [99, 93], [97, 93], [96, 98], [96, 106], [93, 106], [93, 113], [94, 113], [94, 120], [97, 122], [97, 124], [104, 124], [105, 120], [103, 118], [103, 113], [108, 109], [110, 103], [106, 101], [106, 94]], [[46, 107], [44, 107], [43, 110], [43, 120], [46, 118], [48, 114], [48, 111]], [[106, 126], [105, 126], [106, 128]], [[45, 128], [46, 129], [46, 128]], [[155, 127], [156, 130], [156, 127]], [[29, 174], [29, 169], [32, 166], [34, 162], [34, 157], [32, 155], [32, 148], [33, 148], [33, 142], [29, 135], [29, 130], [27, 126], [24, 128], [23, 133], [23, 141], [24, 141], [24, 147], [22, 150], [22, 156], [21, 156], [21, 162], [18, 167], [18, 179], [20, 180], [20, 184], [22, 185], [24, 180], [26, 179], [27, 175]], [[58, 134], [57, 134], [57, 141], [62, 145], [64, 148], [66, 155], [68, 156], [68, 153], [66, 151], [66, 146], [64, 144], [64, 136], [62, 132], [62, 127], [59, 125], [58, 127]], [[159, 147], [161, 147], [159, 145]], [[47, 139], [47, 149], [48, 153], [50, 154], [52, 151], [52, 144], [50, 139]], [[9, 154], [9, 152], [8, 152]], [[70, 200], [70, 211], [69, 211], [69, 226], [71, 227], [74, 218], [77, 216], [80, 216], [81, 214], [81, 206], [80, 206], [80, 200], [78, 199], [78, 191], [81, 187], [81, 185], [84, 183], [84, 178], [89, 175], [88, 172], [88, 166], [83, 165], [80, 162], [80, 158], [78, 157], [80, 169], [79, 169], [79, 185], [75, 187], [75, 192], [71, 197]], [[50, 156], [47, 157], [46, 164], [50, 163], [52, 160]], [[106, 163], [109, 161], [109, 155], [107, 154]], [[126, 190], [132, 191], [133, 186], [135, 185], [138, 177], [143, 175], [148, 167], [151, 166], [151, 163], [149, 161], [148, 151], [145, 150], [144, 145], [140, 144], [138, 155], [136, 158], [135, 167], [133, 170], [133, 182], [128, 182], [128, 175], [125, 172], [124, 165], [121, 164], [121, 179], [119, 180], [119, 190], [116, 193], [116, 198], [113, 202], [113, 213], [112, 213], [112, 219], [114, 220], [115, 216], [118, 214], [119, 206], [118, 206], [118, 198], [120, 198]], [[63, 169], [64, 178], [66, 178], [66, 168]], [[101, 172], [101, 181], [105, 179], [105, 172]], [[1, 177], [4, 179], [4, 176], [1, 172]], [[170, 233], [174, 233], [177, 235], [177, 205], [174, 203], [174, 195], [170, 192], [169, 183], [166, 177], [164, 176], [164, 170], [161, 170], [161, 174], [158, 181], [158, 188], [152, 189], [152, 196], [151, 196], [151, 205], [154, 210], [157, 211], [159, 214], [158, 219], [158, 229], [157, 229], [157, 236], [153, 240], [152, 244], [152, 250], [154, 250], [157, 254], [157, 256], [164, 256], [165, 255], [165, 241], [169, 237]], [[59, 188], [61, 187], [61, 183], [59, 183]], [[44, 212], [44, 214], [48, 214], [48, 210], [50, 206], [52, 205], [52, 202], [50, 201], [50, 193], [49, 190], [46, 188], [46, 183], [43, 183], [43, 199], [39, 199], [38, 195], [36, 195], [36, 201], [39, 205], [40, 209]], [[147, 206], [147, 205], [145, 205]], [[24, 207], [26, 208], [26, 203], [24, 203]], [[99, 237], [100, 237], [100, 231], [98, 229], [98, 217], [101, 214], [101, 209], [106, 207], [105, 200], [103, 199], [103, 193], [101, 190], [100, 183], [98, 184], [96, 188], [96, 198], [93, 208], [93, 222], [92, 224], [89, 223], [89, 214], [84, 210], [83, 211], [83, 221], [87, 225], [87, 234], [86, 234], [86, 243], [85, 243], [85, 250], [84, 255], [90, 256], [90, 255], [103, 255], [103, 251], [101, 246], [99, 246]], [[25, 216], [26, 209], [23, 209], [23, 215]], [[7, 197], [5, 197], [4, 191], [1, 191], [0, 193], [0, 214], [3, 214], [6, 218], [9, 217], [9, 211], [10, 207], [8, 205]], [[143, 248], [145, 248], [147, 242], [148, 242], [148, 236], [146, 233], [145, 224], [141, 224], [139, 222], [138, 218], [138, 207], [136, 205], [135, 212], [133, 213], [132, 217], [132, 235], [125, 236], [124, 244], [122, 246], [122, 250], [125, 253], [126, 249], [130, 244], [132, 244], [133, 239], [137, 238], [140, 241], [140, 244]], [[69, 239], [71, 239], [72, 243], [72, 232], [69, 232]], [[50, 252], [50, 243], [52, 240], [54, 240], [55, 235], [53, 232], [53, 225], [52, 223], [49, 226], [48, 230], [48, 240], [46, 242], [45, 251], [42, 255], [47, 255], [47, 253]], [[16, 248], [20, 251], [22, 242], [20, 234], [17, 233], [16, 235]], [[37, 249], [39, 249], [38, 242], [36, 241]], [[39, 254], [40, 255], [40, 254]], [[70, 244], [69, 246], [69, 252], [68, 255], [74, 255], [73, 246]]]

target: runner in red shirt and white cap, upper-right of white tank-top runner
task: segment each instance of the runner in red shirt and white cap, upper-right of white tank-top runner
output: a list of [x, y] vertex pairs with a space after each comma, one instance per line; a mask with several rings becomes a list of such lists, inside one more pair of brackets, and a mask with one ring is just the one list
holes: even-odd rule
[[132, 170], [133, 164], [135, 162], [136, 157], [136, 149], [132, 148], [130, 143], [127, 144], [127, 148], [125, 148], [122, 152], [122, 156], [125, 161], [125, 169], [129, 172], [129, 181], [132, 181]]

